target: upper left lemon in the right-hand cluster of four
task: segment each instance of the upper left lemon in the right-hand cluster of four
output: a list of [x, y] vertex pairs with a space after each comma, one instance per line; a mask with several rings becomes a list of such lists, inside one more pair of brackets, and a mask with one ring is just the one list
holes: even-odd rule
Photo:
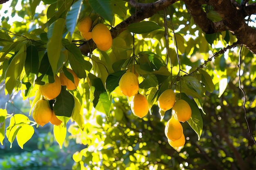
[[175, 104], [175, 93], [172, 89], [165, 90], [157, 100], [158, 107], [164, 111], [170, 110]]

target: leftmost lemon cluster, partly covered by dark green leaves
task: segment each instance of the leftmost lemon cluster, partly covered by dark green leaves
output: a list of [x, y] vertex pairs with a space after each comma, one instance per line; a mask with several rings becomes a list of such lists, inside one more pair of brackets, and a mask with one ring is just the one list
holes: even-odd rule
[[74, 83], [65, 76], [64, 72], [61, 72], [59, 77], [55, 75], [53, 83], [39, 86], [39, 93], [43, 95], [43, 99], [36, 102], [32, 117], [40, 126], [44, 126], [48, 122], [57, 126], [62, 123], [49, 106], [48, 100], [55, 99], [61, 93], [61, 86], [66, 86], [68, 90], [74, 90], [78, 86], [79, 78], [77, 75], [70, 68], [67, 68], [67, 71], [73, 75]]

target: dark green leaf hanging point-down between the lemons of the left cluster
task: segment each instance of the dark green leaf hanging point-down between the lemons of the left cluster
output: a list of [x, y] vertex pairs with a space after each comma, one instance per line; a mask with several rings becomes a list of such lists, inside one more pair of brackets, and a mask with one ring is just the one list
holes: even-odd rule
[[73, 95], [66, 90], [66, 86], [61, 86], [61, 93], [56, 97], [56, 102], [53, 106], [55, 115], [71, 117], [74, 104]]

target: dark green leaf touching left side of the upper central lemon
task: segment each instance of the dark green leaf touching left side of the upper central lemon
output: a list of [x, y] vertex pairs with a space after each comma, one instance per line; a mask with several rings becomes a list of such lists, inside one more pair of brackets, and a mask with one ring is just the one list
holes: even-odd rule
[[115, 88], [117, 86], [119, 86], [119, 80], [121, 79], [121, 77], [124, 73], [126, 73], [126, 70], [117, 71], [115, 73], [108, 75], [108, 77], [106, 79], [106, 90], [107, 90], [109, 97], [110, 97], [112, 91], [114, 91]]

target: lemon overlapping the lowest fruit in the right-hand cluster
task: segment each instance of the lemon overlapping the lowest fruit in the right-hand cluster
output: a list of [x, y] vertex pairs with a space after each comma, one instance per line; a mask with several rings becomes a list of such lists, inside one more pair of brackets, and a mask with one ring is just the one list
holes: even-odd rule
[[167, 121], [164, 132], [169, 140], [176, 141], [181, 138], [183, 128], [180, 122], [172, 116], [171, 119]]

